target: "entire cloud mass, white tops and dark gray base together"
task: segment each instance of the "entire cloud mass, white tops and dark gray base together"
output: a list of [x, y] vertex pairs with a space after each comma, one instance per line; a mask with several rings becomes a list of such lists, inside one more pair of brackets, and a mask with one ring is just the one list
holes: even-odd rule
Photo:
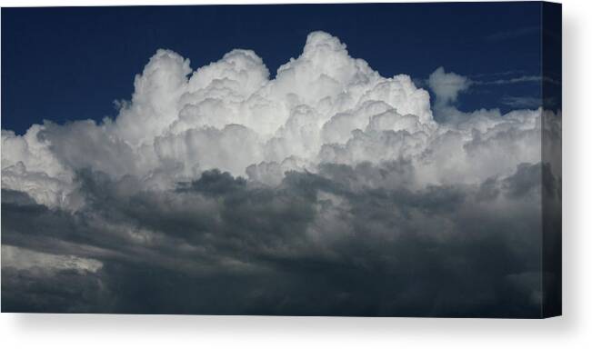
[[274, 78], [159, 50], [134, 84], [114, 119], [2, 131], [3, 310], [539, 311], [541, 109], [460, 112], [438, 68], [436, 122], [322, 32]]

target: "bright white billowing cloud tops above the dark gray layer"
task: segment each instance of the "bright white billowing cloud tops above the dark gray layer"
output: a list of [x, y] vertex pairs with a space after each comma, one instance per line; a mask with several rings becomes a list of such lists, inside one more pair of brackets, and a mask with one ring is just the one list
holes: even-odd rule
[[[439, 68], [429, 85], [448, 104], [468, 83]], [[115, 120], [100, 125], [3, 131], [3, 188], [76, 207], [74, 174], [83, 168], [166, 189], [214, 168], [278, 184], [289, 170], [404, 158], [416, 167], [412, 184], [422, 187], [478, 183], [540, 159], [539, 111], [437, 125], [428, 93], [409, 76], [380, 76], [323, 32], [308, 35], [302, 55], [271, 80], [253, 51], [233, 50], [192, 71], [188, 59], [159, 50], [136, 75], [132, 100], [120, 105]]]

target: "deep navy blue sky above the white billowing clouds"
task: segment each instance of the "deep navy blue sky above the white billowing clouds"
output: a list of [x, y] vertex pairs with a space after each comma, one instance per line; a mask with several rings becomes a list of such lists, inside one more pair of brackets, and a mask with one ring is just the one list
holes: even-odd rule
[[[338, 36], [384, 76], [425, 79], [443, 65], [492, 81], [541, 68], [536, 2], [3, 8], [2, 128], [21, 134], [44, 119], [115, 116], [113, 101], [130, 98], [158, 48], [194, 69], [249, 48], [275, 75], [314, 30]], [[479, 85], [459, 107], [508, 110], [502, 101], [539, 91], [532, 82]]]

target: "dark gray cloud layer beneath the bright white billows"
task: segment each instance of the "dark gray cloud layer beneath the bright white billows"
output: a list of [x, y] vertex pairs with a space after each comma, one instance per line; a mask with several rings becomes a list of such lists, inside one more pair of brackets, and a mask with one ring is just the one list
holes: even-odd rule
[[3, 260], [3, 311], [536, 317], [540, 171], [411, 190], [403, 160], [273, 187], [213, 170], [162, 192], [87, 170], [76, 212], [3, 190], [3, 245], [102, 265]]

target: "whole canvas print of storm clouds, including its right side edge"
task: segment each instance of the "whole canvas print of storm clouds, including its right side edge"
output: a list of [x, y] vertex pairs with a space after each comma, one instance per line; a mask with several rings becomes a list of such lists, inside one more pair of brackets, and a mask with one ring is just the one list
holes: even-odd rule
[[561, 314], [561, 6], [2, 8], [2, 312]]

